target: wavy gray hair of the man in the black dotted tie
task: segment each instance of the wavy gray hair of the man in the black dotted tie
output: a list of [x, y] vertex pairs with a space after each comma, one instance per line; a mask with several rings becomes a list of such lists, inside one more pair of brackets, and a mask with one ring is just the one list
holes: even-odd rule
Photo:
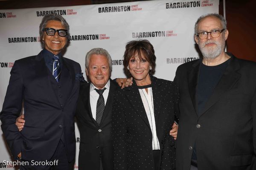
[[93, 54], [106, 56], [108, 59], [108, 65], [109, 65], [110, 71], [112, 70], [111, 56], [109, 55], [108, 51], [103, 48], [93, 48], [89, 52], [87, 52], [85, 57], [85, 68], [89, 69], [89, 60]]

